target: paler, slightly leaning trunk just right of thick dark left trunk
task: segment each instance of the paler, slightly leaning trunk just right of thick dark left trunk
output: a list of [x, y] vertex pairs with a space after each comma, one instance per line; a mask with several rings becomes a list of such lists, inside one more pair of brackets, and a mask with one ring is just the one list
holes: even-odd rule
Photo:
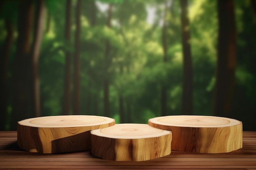
[[40, 83], [38, 75], [38, 60], [41, 48], [41, 41], [43, 36], [43, 25], [45, 16], [44, 0], [38, 0], [36, 10], [36, 23], [34, 30], [34, 40], [32, 44], [31, 53], [31, 67], [32, 67], [32, 113], [33, 116], [39, 117], [40, 114]]

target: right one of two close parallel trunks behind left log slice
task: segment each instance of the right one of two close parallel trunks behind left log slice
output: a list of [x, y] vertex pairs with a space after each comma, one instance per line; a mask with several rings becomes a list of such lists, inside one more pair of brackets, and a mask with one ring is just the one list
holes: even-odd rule
[[80, 114], [80, 32], [81, 32], [81, 0], [76, 3], [76, 34], [74, 61], [74, 114]]

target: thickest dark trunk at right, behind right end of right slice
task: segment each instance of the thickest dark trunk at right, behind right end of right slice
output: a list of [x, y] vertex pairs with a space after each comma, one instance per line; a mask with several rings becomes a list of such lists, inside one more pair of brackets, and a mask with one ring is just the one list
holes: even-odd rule
[[231, 116], [235, 88], [236, 22], [233, 0], [218, 0], [218, 56], [213, 115]]

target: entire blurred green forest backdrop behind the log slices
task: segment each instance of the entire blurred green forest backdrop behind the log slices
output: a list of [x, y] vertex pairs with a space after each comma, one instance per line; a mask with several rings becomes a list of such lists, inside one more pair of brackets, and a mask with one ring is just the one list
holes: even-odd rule
[[215, 115], [256, 130], [256, 0], [1, 0], [0, 130]]

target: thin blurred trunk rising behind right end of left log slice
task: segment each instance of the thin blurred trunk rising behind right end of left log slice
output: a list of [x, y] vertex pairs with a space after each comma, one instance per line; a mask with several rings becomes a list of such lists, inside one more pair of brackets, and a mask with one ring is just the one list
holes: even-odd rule
[[[111, 28], [111, 18], [112, 18], [112, 4], [109, 4], [108, 7], [108, 21], [107, 26]], [[110, 109], [109, 109], [109, 75], [108, 75], [108, 68], [110, 66], [110, 41], [106, 40], [106, 51], [105, 51], [105, 79], [104, 79], [104, 115], [109, 117], [110, 116]]]

